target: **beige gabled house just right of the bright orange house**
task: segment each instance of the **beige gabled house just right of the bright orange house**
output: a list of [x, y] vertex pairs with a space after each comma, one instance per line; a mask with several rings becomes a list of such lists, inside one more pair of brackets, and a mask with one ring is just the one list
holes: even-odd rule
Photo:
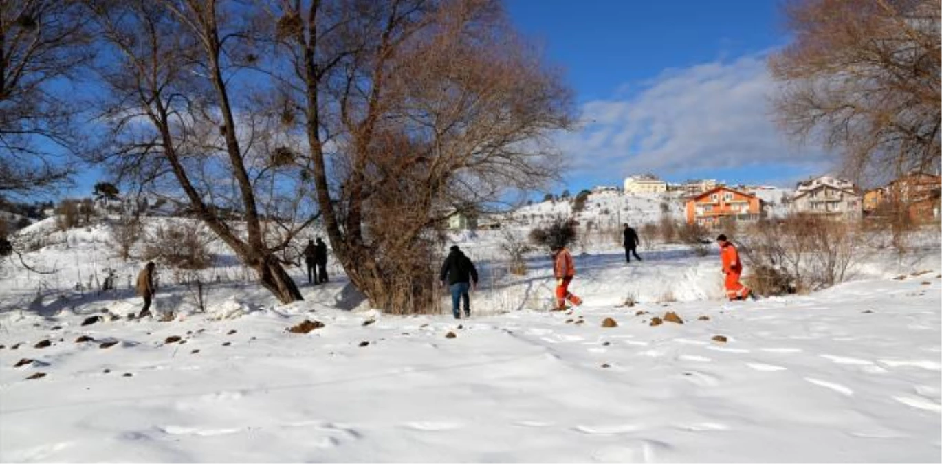
[[858, 219], [863, 213], [863, 201], [850, 181], [821, 176], [798, 183], [788, 209], [798, 214]]

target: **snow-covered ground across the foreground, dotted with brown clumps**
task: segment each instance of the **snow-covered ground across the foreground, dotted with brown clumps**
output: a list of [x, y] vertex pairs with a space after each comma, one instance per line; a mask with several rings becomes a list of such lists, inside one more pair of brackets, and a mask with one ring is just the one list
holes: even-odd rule
[[[63, 270], [76, 273], [102, 244], [88, 233], [27, 258], [79, 263]], [[176, 312], [171, 322], [111, 320], [139, 298], [35, 301], [36, 282], [10, 271], [0, 462], [942, 460], [938, 248], [874, 256], [817, 294], [727, 303], [715, 255], [657, 247], [626, 265], [600, 247], [577, 255], [573, 291], [586, 304], [546, 312], [544, 256], [512, 277], [488, 261], [494, 237], [460, 238], [483, 278], [461, 321], [364, 309], [340, 275], [286, 306], [222, 281], [206, 313], [168, 283], [156, 306]], [[651, 326], [665, 312], [683, 324]], [[93, 315], [105, 317], [81, 325]], [[602, 326], [609, 317], [617, 327]], [[324, 327], [286, 331], [304, 320]]]

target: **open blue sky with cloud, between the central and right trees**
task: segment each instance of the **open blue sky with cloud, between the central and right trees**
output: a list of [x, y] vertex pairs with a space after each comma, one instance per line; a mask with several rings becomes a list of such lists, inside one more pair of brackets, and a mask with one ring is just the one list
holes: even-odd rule
[[514, 24], [576, 89], [560, 136], [570, 190], [651, 171], [682, 181], [792, 184], [829, 156], [771, 121], [765, 57], [788, 37], [775, 0], [509, 0]]

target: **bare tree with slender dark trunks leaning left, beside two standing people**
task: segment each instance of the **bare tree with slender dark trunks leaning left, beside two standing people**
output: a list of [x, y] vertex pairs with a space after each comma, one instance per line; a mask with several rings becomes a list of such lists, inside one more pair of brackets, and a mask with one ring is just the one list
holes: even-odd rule
[[120, 179], [181, 192], [194, 216], [284, 303], [302, 299], [279, 251], [317, 214], [259, 52], [233, 0], [89, 1], [109, 56], [105, 159]]

